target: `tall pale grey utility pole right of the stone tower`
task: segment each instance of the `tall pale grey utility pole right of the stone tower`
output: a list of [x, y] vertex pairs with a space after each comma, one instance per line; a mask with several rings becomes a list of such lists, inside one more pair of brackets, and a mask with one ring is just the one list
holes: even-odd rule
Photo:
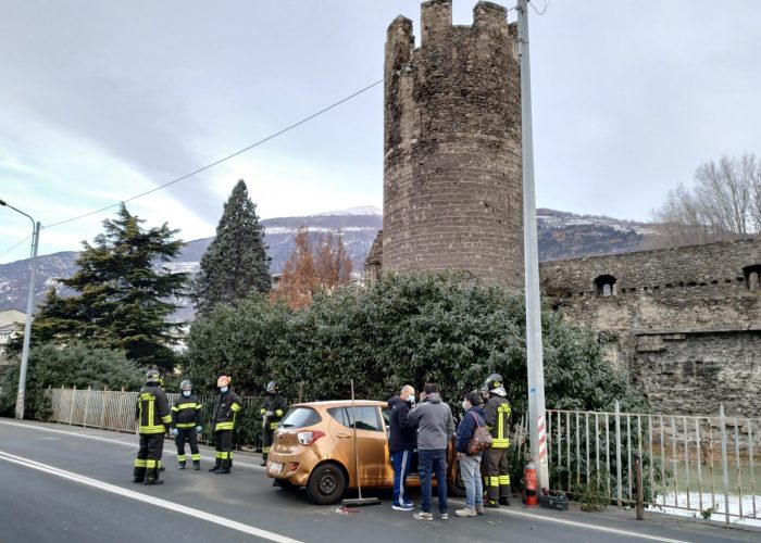
[[549, 488], [545, 421], [545, 364], [541, 349], [539, 249], [536, 236], [532, 72], [528, 55], [528, 0], [517, 0], [517, 47], [521, 56], [521, 139], [523, 146], [523, 249], [525, 254], [526, 366], [528, 368], [528, 431], [538, 490]]

